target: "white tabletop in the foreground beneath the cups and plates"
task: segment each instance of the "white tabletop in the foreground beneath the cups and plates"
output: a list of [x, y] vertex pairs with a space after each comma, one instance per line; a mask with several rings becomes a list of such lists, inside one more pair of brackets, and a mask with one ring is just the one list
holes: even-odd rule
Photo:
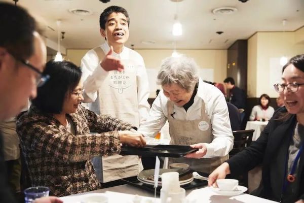
[[[82, 195], [90, 194], [90, 193], [105, 193], [110, 198], [109, 203], [118, 203], [118, 202], [133, 202], [132, 198], [134, 198], [135, 194], [143, 196], [142, 199], [151, 199], [150, 197], [154, 197], [154, 195], [150, 192], [142, 190], [140, 188], [136, 188], [130, 185], [120, 185], [110, 188], [104, 188], [100, 190], [94, 190], [91, 192], [83, 193], [83, 194], [75, 194], [71, 196], [61, 197], [64, 203], [79, 203]], [[271, 203], [275, 201], [271, 201], [268, 199], [263, 199], [260, 197], [256, 197], [250, 194], [241, 194], [238, 196], [221, 196], [211, 191], [208, 187], [204, 187], [201, 189], [193, 189], [186, 191], [186, 199], [187, 203], [217, 203], [217, 202], [229, 202], [229, 203]], [[118, 201], [122, 200], [122, 201]], [[141, 201], [146, 202], [146, 201]], [[154, 201], [153, 201], [154, 202]], [[160, 203], [160, 199], [157, 198], [157, 203]]]

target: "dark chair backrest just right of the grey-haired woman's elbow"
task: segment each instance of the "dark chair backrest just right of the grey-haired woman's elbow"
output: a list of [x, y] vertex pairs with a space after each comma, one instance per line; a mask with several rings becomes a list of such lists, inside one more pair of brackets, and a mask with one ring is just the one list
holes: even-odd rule
[[234, 146], [233, 149], [229, 152], [229, 157], [233, 157], [246, 147], [249, 147], [252, 142], [254, 130], [236, 130], [233, 131], [234, 136]]

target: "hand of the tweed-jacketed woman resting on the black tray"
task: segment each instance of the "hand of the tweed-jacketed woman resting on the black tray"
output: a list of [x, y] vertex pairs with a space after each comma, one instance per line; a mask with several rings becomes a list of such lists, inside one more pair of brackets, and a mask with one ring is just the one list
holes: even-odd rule
[[142, 134], [138, 132], [132, 132], [130, 130], [118, 131], [120, 136], [120, 142], [130, 145], [132, 147], [144, 147], [146, 145]]

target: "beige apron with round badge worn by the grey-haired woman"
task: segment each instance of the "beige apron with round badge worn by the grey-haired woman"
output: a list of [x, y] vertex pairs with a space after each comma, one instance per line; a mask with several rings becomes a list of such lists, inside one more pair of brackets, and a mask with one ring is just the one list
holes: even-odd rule
[[[213, 140], [212, 126], [207, 113], [205, 103], [202, 101], [201, 118], [197, 120], [176, 120], [172, 101], [167, 102], [168, 122], [171, 137], [171, 145], [193, 145], [197, 143], [211, 143]], [[173, 116], [172, 116], [173, 115]], [[214, 158], [169, 158], [170, 163], [187, 163], [194, 171], [210, 174], [217, 166], [228, 159], [228, 155]]]

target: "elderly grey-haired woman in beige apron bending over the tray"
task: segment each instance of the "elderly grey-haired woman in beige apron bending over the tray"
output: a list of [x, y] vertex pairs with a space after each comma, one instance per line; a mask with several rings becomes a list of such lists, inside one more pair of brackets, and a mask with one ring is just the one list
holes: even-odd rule
[[143, 136], [154, 137], [168, 120], [171, 145], [199, 148], [186, 158], [170, 158], [169, 163], [183, 162], [194, 171], [211, 173], [227, 160], [233, 148], [234, 137], [224, 95], [203, 82], [195, 61], [185, 56], [166, 58], [157, 83], [163, 90], [138, 131]]

